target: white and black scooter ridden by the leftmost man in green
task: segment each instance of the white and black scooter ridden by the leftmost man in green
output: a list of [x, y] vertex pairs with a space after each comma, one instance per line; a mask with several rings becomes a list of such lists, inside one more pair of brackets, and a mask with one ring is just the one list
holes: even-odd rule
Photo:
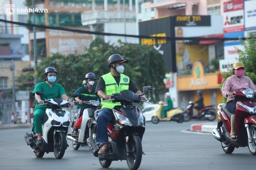
[[[37, 95], [44, 95], [43, 92], [36, 92]], [[77, 97], [73, 94], [70, 97]], [[47, 96], [45, 95], [47, 98]], [[70, 98], [69, 97], [69, 98]], [[67, 149], [66, 135], [69, 128], [70, 113], [68, 110], [62, 110], [62, 107], [69, 107], [67, 100], [63, 99], [46, 99], [44, 104], [47, 107], [43, 114], [42, 139], [43, 145], [36, 146], [37, 134], [26, 133], [25, 141], [27, 145], [34, 149], [37, 158], [42, 158], [43, 155], [49, 152], [54, 152], [57, 159], [61, 159]], [[33, 130], [32, 130], [33, 131]]]

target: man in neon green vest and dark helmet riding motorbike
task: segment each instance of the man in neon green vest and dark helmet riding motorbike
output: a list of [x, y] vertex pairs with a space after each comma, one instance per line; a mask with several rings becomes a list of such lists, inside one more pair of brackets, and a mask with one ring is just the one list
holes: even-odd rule
[[[99, 78], [96, 86], [96, 95], [102, 99], [110, 99], [113, 93], [119, 93], [123, 90], [131, 90], [136, 94], [142, 94], [135, 86], [133, 81], [123, 74], [125, 68], [123, 66], [127, 60], [119, 54], [112, 54], [108, 59], [108, 67], [110, 72]], [[140, 97], [146, 100], [144, 96]], [[97, 118], [97, 144], [103, 144], [99, 150], [99, 154], [104, 154], [108, 150], [107, 123], [111, 121], [113, 112], [112, 108], [120, 103], [112, 103], [110, 101], [102, 101], [102, 110]], [[145, 118], [144, 118], [145, 119]]]

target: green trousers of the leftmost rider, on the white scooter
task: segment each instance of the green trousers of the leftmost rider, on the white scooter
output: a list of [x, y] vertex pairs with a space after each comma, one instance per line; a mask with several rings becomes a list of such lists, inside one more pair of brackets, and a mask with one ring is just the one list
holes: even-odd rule
[[46, 109], [35, 109], [33, 116], [34, 133], [42, 133], [42, 119]]

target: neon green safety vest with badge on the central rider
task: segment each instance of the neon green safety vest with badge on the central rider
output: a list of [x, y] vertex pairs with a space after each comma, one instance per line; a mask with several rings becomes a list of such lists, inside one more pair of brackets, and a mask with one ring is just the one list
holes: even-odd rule
[[[112, 95], [114, 93], [119, 93], [123, 90], [129, 90], [130, 78], [126, 75], [120, 74], [119, 85], [116, 83], [116, 80], [111, 75], [111, 73], [107, 73], [106, 75], [103, 75], [102, 78], [106, 85], [105, 92], [104, 92], [106, 95]], [[121, 105], [120, 102], [113, 103], [112, 101], [101, 102], [101, 104], [102, 104], [102, 108], [106, 107], [109, 109], [113, 109], [116, 105]]]

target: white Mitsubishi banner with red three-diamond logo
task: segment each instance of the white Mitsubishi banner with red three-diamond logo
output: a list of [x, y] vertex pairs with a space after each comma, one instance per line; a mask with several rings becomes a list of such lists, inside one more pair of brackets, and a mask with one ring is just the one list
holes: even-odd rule
[[224, 33], [244, 31], [244, 10], [223, 14]]

